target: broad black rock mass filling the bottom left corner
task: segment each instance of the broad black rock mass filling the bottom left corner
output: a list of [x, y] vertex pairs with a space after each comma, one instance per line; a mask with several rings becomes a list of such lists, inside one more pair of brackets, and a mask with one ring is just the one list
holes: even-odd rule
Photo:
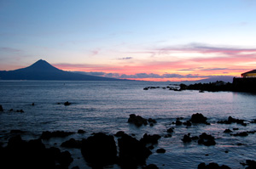
[[46, 149], [41, 139], [22, 140], [20, 135], [9, 138], [9, 143], [0, 151], [2, 166], [6, 168], [55, 169], [67, 168], [73, 161], [68, 151], [58, 148]]

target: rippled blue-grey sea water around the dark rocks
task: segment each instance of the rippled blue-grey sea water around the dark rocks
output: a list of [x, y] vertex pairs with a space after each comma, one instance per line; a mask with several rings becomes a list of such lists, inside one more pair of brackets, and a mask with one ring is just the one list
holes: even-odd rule
[[[256, 124], [247, 127], [232, 124], [218, 124], [231, 115], [252, 121], [256, 119], [256, 95], [252, 93], [199, 93], [198, 91], [174, 92], [162, 88], [145, 91], [143, 87], [166, 87], [169, 82], [4, 82], [0, 81], [0, 142], [6, 144], [10, 130], [26, 131], [23, 139], [38, 138], [43, 131], [77, 132], [67, 138], [51, 138], [44, 141], [47, 146], [59, 146], [69, 138], [82, 139], [92, 132], [113, 134], [120, 130], [134, 133], [142, 138], [144, 133], [164, 136], [166, 130], [175, 127], [172, 138], [160, 138], [159, 144], [148, 157], [147, 164], [154, 163], [162, 169], [197, 168], [201, 162], [216, 162], [231, 168], [244, 168], [240, 162], [256, 160], [256, 134], [234, 137], [224, 133], [238, 127], [238, 132], [256, 130]], [[64, 106], [64, 102], [71, 105]], [[32, 106], [32, 103], [35, 105]], [[60, 104], [58, 104], [60, 103]], [[24, 110], [24, 113], [9, 112]], [[130, 114], [154, 118], [154, 127], [135, 127], [127, 123]], [[192, 127], [172, 125], [177, 117], [189, 120], [191, 115], [201, 113], [207, 116], [211, 125]], [[183, 144], [181, 138], [191, 133], [199, 136], [202, 132], [216, 138], [215, 146], [198, 145], [196, 142]], [[245, 144], [238, 146], [237, 144]], [[166, 149], [165, 154], [157, 154], [158, 148]], [[63, 149], [63, 148], [61, 148]], [[86, 165], [79, 149], [68, 149], [74, 158], [71, 166], [90, 168]], [[226, 153], [225, 151], [228, 151]], [[119, 168], [109, 166], [108, 168]]]

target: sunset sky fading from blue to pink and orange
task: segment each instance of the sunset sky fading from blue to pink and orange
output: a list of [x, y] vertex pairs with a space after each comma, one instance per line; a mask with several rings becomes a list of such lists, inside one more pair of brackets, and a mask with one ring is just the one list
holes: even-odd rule
[[195, 81], [256, 69], [256, 0], [0, 0], [0, 70]]

